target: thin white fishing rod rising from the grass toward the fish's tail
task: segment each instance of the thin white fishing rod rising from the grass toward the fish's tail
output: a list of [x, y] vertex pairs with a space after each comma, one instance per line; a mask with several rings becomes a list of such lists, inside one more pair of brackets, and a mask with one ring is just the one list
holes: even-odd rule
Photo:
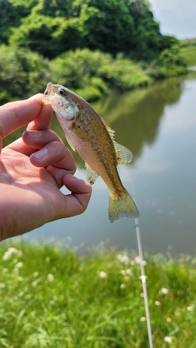
[[[135, 198], [135, 192], [133, 189], [133, 182], [131, 182], [132, 187], [132, 196]], [[148, 329], [148, 335], [149, 335], [149, 347], [153, 348], [153, 338], [152, 338], [152, 331], [151, 331], [151, 318], [150, 318], [150, 311], [149, 311], [149, 301], [148, 301], [148, 294], [147, 294], [147, 286], [146, 286], [146, 276], [144, 271], [144, 256], [142, 251], [142, 239], [140, 234], [140, 223], [139, 219], [135, 218], [135, 232], [137, 237], [137, 248], [140, 258], [140, 270], [141, 270], [141, 281], [142, 281], [142, 287], [143, 287], [143, 294], [144, 294], [144, 305], [145, 305], [145, 311], [146, 311], [146, 323], [147, 323], [147, 329]]]

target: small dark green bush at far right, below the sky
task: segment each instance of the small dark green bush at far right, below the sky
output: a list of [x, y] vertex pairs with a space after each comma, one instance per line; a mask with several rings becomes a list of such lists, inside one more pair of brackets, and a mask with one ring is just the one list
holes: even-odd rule
[[149, 74], [156, 79], [174, 77], [186, 72], [186, 62], [179, 45], [174, 45], [171, 49], [164, 49], [149, 68]]

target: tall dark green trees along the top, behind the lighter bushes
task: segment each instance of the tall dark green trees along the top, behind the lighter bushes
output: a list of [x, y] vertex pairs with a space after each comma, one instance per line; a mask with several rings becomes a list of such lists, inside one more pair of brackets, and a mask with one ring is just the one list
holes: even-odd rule
[[146, 0], [6, 3], [6, 13], [11, 13], [14, 20], [5, 19], [8, 30], [2, 27], [3, 42], [29, 48], [48, 58], [88, 47], [112, 56], [122, 52], [130, 58], [151, 61], [174, 40], [160, 33]]

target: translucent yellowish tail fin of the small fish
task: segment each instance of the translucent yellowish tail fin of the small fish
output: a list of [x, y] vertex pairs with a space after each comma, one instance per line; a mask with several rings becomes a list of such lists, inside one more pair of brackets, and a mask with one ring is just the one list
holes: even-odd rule
[[110, 196], [109, 200], [109, 219], [114, 222], [121, 217], [137, 218], [140, 213], [137, 210], [134, 200], [130, 197], [128, 191], [124, 191], [123, 195]]

